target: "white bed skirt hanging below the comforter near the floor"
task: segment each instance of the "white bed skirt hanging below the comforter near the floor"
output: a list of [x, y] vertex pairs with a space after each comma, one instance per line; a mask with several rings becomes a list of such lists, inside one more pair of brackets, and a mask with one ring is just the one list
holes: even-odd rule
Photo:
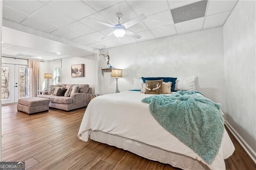
[[136, 140], [131, 140], [114, 134], [108, 134], [102, 131], [90, 130], [90, 138], [97, 142], [106, 143], [111, 146], [116, 146], [124, 150], [128, 150], [134, 154], [156, 160], [158, 162], [170, 164], [174, 167], [184, 170], [208, 170], [208, 166], [202, 162], [184, 156], [182, 154], [166, 151]]

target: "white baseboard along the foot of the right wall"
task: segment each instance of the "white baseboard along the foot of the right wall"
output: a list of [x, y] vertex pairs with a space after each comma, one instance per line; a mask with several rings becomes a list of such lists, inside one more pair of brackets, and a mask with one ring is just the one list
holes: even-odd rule
[[236, 132], [236, 130], [228, 123], [228, 121], [224, 121], [224, 124], [228, 127], [230, 132], [235, 136], [236, 140], [241, 144], [246, 153], [252, 158], [253, 162], [256, 164], [256, 153], [252, 148], [244, 141], [244, 139]]

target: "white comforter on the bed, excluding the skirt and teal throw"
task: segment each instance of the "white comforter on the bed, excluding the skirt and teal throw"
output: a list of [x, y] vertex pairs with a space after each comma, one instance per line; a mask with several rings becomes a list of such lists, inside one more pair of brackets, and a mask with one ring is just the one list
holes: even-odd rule
[[141, 99], [149, 96], [140, 92], [124, 91], [94, 98], [86, 109], [78, 137], [88, 141], [90, 130], [100, 130], [189, 156], [203, 162], [210, 169], [225, 169], [224, 159], [234, 152], [234, 145], [226, 130], [218, 155], [209, 165], [158, 124], [151, 115], [148, 104], [141, 102]]

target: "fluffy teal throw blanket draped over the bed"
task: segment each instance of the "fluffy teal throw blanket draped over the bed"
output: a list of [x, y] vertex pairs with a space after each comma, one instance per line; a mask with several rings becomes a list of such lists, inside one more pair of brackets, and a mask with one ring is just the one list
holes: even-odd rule
[[[154, 95], [142, 99], [158, 123], [212, 164], [224, 133], [221, 105], [196, 95], [178, 91], [172, 95]], [[172, 141], [170, 141], [172, 142]]]

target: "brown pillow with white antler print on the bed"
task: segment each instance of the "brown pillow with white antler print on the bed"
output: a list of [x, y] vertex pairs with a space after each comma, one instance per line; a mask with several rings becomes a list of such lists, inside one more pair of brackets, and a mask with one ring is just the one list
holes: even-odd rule
[[162, 83], [163, 83], [163, 79], [161, 79], [161, 80], [146, 80], [145, 94], [154, 94], [154, 95], [161, 94]]

